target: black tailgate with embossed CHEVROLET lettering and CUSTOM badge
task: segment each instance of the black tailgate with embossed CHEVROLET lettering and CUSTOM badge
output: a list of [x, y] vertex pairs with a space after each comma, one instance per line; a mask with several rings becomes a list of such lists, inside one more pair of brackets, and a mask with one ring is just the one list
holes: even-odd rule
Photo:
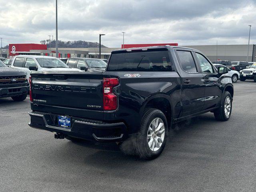
[[32, 74], [34, 104], [103, 111], [102, 72]]

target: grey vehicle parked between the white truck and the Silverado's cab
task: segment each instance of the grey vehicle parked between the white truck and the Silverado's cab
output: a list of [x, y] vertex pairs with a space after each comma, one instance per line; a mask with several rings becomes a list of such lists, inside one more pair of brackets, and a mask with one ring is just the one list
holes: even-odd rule
[[69, 58], [67, 65], [72, 68], [86, 67], [90, 70], [104, 71], [106, 69], [107, 63], [101, 59], [93, 58]]

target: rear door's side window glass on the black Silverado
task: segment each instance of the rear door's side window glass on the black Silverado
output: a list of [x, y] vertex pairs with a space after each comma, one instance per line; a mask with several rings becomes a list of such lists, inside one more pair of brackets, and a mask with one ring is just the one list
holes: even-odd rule
[[197, 72], [192, 53], [190, 51], [177, 51], [181, 68], [189, 73]]

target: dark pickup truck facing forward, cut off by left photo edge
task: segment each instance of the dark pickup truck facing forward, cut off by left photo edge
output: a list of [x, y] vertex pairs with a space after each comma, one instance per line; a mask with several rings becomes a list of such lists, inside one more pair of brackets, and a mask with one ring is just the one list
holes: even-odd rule
[[0, 98], [12, 97], [14, 101], [26, 99], [29, 83], [26, 72], [7, 67], [0, 61]]

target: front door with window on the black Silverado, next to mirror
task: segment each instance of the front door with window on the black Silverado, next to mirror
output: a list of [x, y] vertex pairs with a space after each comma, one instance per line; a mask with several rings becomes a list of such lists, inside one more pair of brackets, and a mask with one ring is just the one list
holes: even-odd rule
[[194, 52], [196, 60], [198, 62], [200, 73], [204, 77], [205, 91], [204, 98], [205, 104], [203, 110], [208, 110], [219, 105], [222, 90], [220, 90], [220, 84], [218, 82], [217, 70], [212, 66], [210, 61], [200, 52]]

